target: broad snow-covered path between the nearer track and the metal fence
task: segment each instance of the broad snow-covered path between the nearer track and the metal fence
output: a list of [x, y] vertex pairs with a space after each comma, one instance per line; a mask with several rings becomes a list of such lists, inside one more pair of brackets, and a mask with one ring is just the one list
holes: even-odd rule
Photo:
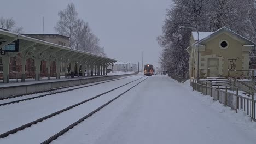
[[167, 76], [151, 76], [53, 143], [256, 142], [251, 122], [241, 125], [216, 105]]

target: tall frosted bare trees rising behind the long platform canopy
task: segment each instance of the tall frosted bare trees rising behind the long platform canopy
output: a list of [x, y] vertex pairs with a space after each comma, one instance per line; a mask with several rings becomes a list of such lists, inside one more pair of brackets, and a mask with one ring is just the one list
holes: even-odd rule
[[59, 11], [59, 21], [54, 27], [57, 33], [70, 37], [70, 46], [85, 52], [106, 56], [104, 47], [100, 46], [100, 39], [92, 33], [88, 22], [78, 18], [75, 5], [70, 3], [67, 8]]

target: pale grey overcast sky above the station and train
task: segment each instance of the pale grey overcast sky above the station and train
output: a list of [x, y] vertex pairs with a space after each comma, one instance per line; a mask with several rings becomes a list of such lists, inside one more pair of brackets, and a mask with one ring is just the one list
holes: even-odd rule
[[157, 65], [161, 34], [171, 0], [1, 0], [0, 17], [12, 17], [25, 33], [54, 34], [57, 13], [73, 2], [81, 17], [100, 38], [109, 58]]

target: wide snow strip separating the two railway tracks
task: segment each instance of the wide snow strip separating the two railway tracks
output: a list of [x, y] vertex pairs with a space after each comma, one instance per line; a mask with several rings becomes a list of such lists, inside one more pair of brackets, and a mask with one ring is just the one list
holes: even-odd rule
[[77, 104], [80, 101], [95, 97], [98, 94], [124, 85], [125, 83], [136, 80], [142, 76], [143, 75], [132, 76], [127, 79], [111, 81], [100, 85], [76, 89], [74, 91], [0, 106], [0, 134], [68, 106]]

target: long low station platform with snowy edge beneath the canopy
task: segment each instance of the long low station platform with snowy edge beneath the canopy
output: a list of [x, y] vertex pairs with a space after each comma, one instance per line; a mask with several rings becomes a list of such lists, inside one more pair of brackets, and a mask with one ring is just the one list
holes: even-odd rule
[[109, 75], [101, 76], [86, 76], [86, 77], [74, 77], [56, 79], [51, 77], [50, 80], [47, 77], [40, 79], [40, 81], [35, 81], [34, 79], [26, 79], [25, 82], [15, 82], [15, 83], [0, 83], [0, 98], [7, 98], [14, 95], [25, 95], [37, 92], [46, 91], [49, 89], [84, 85], [87, 83], [93, 83], [98, 81], [106, 81], [117, 79], [119, 77], [136, 75], [137, 73], [110, 73]]

